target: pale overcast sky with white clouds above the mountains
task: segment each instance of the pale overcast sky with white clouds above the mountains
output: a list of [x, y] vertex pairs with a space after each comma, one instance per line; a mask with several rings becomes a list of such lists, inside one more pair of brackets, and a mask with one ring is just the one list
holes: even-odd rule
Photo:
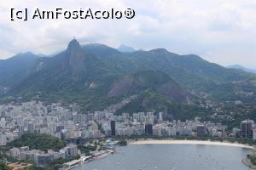
[[[132, 20], [10, 20], [10, 8], [134, 8]], [[0, 59], [26, 51], [53, 54], [81, 43], [121, 43], [198, 54], [220, 65], [256, 68], [255, 0], [1, 0]]]

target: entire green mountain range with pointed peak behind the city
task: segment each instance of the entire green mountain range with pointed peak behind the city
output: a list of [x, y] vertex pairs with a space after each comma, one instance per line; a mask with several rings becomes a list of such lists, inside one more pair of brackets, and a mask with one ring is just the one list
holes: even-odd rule
[[201, 99], [254, 102], [254, 94], [247, 98], [243, 93], [256, 94], [253, 73], [195, 54], [179, 55], [164, 48], [122, 51], [98, 43], [80, 45], [75, 39], [52, 57], [25, 53], [0, 60], [0, 75], [0, 87], [9, 89], [1, 94], [2, 102], [78, 103], [84, 111], [119, 105], [112, 108], [177, 116], [200, 111]]

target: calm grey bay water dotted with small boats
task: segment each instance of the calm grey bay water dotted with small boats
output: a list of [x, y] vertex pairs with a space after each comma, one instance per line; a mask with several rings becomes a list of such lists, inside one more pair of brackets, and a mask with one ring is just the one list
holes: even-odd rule
[[250, 150], [197, 144], [131, 144], [75, 170], [244, 170]]

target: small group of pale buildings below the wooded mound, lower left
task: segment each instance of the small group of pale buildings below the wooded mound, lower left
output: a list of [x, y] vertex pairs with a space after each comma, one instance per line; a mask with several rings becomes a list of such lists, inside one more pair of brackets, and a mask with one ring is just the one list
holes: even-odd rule
[[11, 156], [17, 160], [31, 160], [39, 165], [48, 164], [55, 159], [67, 159], [68, 157], [77, 156], [78, 154], [78, 147], [75, 144], [69, 144], [59, 151], [48, 150], [47, 153], [45, 153], [43, 150], [29, 150], [28, 146], [12, 148], [7, 153], [8, 156]]

